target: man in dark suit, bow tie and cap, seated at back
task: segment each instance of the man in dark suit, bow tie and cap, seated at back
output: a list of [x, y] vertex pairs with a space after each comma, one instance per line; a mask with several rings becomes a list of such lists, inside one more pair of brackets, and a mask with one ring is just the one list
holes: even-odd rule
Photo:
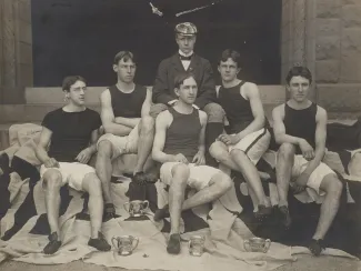
[[[174, 94], [174, 77], [180, 72], [191, 72], [198, 84], [198, 94], [194, 107], [202, 109], [208, 114], [205, 131], [207, 150], [223, 131], [224, 111], [215, 103], [215, 86], [213, 71], [207, 59], [193, 52], [197, 40], [197, 27], [191, 22], [176, 26], [176, 41], [179, 51], [170, 58], [162, 60], [158, 68], [153, 87], [153, 102], [151, 116], [157, 117], [177, 102]], [[205, 155], [209, 165], [217, 167], [215, 160]]]

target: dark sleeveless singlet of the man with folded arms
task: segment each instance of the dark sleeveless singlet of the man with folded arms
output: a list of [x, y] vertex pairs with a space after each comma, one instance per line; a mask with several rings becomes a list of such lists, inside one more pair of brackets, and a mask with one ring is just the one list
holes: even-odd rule
[[131, 93], [124, 93], [114, 84], [109, 88], [114, 117], [140, 118], [147, 88], [136, 84]]

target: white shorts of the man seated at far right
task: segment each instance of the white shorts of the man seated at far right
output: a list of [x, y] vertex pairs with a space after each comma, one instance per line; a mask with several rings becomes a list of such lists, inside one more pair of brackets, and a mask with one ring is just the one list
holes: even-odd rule
[[[305, 170], [308, 167], [309, 161], [305, 160], [301, 154], [294, 155], [294, 163], [292, 167], [292, 181], [295, 181], [295, 179]], [[312, 188], [319, 195], [323, 195], [324, 192], [320, 191], [320, 185], [323, 180], [323, 178], [328, 174], [335, 174], [333, 170], [329, 168], [325, 163], [320, 163], [319, 167], [317, 167], [313, 172], [311, 173], [307, 185], [309, 188]]]

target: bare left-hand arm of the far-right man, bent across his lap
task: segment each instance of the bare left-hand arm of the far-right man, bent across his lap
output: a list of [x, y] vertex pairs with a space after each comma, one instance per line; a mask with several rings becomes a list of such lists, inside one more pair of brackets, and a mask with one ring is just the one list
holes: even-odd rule
[[285, 127], [283, 123], [284, 104], [281, 104], [273, 109], [272, 118], [273, 118], [274, 139], [278, 144], [282, 144], [282, 143], [291, 143], [291, 144], [295, 144], [295, 145], [301, 144], [301, 141], [304, 139], [285, 134]]

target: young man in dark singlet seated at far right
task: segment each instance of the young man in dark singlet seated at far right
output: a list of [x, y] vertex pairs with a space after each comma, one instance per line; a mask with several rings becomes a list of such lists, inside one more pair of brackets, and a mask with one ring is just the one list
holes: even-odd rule
[[283, 224], [290, 227], [287, 200], [290, 184], [297, 192], [308, 187], [324, 195], [320, 220], [309, 242], [311, 252], [319, 255], [323, 249], [322, 240], [339, 209], [342, 183], [321, 162], [325, 151], [328, 117], [323, 108], [308, 99], [312, 82], [310, 70], [305, 67], [293, 67], [285, 81], [290, 99], [272, 112], [274, 138], [280, 144], [275, 167], [279, 210]]

